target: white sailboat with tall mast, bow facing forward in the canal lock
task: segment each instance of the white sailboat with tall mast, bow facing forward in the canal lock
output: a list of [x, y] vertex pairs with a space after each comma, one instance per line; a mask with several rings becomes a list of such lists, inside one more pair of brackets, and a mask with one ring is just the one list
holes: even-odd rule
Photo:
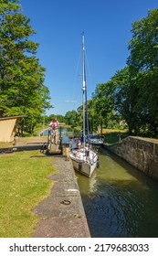
[[[88, 103], [86, 88], [86, 71], [85, 71], [85, 46], [84, 33], [82, 34], [82, 118], [83, 118], [83, 134], [82, 141], [78, 139], [73, 142], [69, 156], [75, 170], [85, 176], [91, 176], [95, 168], [99, 164], [98, 155], [90, 147], [90, 132], [88, 121]], [[85, 132], [87, 123], [87, 134]]]

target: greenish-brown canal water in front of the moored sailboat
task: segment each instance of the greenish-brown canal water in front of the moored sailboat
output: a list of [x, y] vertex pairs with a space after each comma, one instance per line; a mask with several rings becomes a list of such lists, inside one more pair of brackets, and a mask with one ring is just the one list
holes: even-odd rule
[[99, 158], [90, 178], [77, 173], [91, 237], [158, 237], [158, 182], [104, 149]]

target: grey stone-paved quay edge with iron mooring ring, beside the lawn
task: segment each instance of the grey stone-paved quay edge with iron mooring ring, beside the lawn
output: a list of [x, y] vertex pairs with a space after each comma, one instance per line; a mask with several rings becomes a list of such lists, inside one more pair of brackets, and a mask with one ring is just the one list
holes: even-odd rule
[[77, 179], [71, 161], [53, 156], [58, 173], [49, 178], [56, 181], [49, 197], [34, 212], [42, 219], [34, 238], [89, 238], [90, 230], [82, 205]]

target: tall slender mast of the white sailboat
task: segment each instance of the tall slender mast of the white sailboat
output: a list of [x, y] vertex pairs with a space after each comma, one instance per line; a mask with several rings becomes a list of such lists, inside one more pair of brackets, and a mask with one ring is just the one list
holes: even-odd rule
[[82, 104], [83, 104], [83, 146], [85, 146], [85, 91], [86, 91], [86, 74], [85, 74], [85, 46], [84, 32], [82, 34]]

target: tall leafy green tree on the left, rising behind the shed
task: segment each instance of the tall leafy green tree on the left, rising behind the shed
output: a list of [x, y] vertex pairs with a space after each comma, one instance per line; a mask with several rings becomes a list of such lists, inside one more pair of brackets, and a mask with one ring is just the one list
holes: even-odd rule
[[32, 133], [42, 112], [50, 108], [44, 85], [45, 69], [36, 58], [36, 32], [20, 11], [18, 0], [0, 5], [0, 116], [24, 114], [25, 128]]

